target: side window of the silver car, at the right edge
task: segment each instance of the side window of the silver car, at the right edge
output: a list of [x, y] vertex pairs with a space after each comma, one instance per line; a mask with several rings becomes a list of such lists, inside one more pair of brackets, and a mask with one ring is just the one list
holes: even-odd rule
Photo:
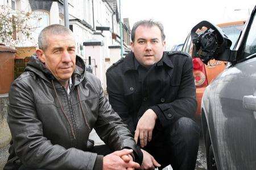
[[250, 56], [256, 53], [256, 36], [255, 35], [256, 35], [256, 18], [254, 15], [253, 22], [251, 23], [251, 27], [245, 41], [242, 58], [245, 58], [247, 56]]

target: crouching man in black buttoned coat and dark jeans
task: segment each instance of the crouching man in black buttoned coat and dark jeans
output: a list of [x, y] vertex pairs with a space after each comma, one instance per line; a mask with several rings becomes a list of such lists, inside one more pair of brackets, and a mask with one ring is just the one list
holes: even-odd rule
[[[134, 24], [131, 49], [106, 72], [109, 101], [143, 148], [143, 169], [195, 169], [199, 127], [191, 57], [164, 52], [162, 24]], [[155, 159], [154, 159], [155, 157]], [[144, 161], [147, 160], [147, 161]]]

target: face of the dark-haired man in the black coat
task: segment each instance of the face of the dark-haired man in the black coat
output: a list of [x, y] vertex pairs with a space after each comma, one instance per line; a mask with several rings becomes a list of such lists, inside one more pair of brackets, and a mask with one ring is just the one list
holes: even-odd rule
[[135, 58], [144, 67], [151, 67], [162, 59], [166, 42], [162, 40], [161, 31], [157, 26], [139, 26], [135, 30], [131, 49]]

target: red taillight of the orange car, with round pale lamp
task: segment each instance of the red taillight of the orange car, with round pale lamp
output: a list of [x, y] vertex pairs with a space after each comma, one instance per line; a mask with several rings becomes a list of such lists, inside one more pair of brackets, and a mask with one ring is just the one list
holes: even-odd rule
[[208, 81], [205, 74], [204, 63], [199, 58], [193, 58], [193, 74], [195, 76], [195, 84], [199, 86], [207, 86]]

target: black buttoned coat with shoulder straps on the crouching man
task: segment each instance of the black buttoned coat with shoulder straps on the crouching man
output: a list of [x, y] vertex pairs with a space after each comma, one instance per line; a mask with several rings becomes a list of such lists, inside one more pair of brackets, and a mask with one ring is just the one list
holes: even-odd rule
[[131, 132], [147, 109], [158, 116], [164, 128], [196, 112], [196, 86], [191, 57], [183, 52], [164, 52], [142, 82], [134, 64], [134, 53], [117, 61], [106, 72], [109, 102]]

